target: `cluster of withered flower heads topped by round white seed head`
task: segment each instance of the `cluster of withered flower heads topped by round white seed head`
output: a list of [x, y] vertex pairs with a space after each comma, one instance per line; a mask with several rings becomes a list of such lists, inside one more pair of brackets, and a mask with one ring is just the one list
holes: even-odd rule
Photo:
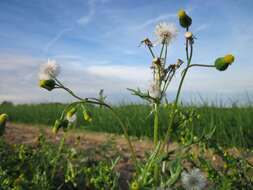
[[[149, 89], [147, 93], [141, 92], [139, 89], [133, 90], [129, 89], [133, 92], [134, 95], [137, 95], [150, 103], [158, 103], [162, 101], [165, 92], [168, 88], [169, 83], [171, 82], [176, 69], [179, 68], [181, 64], [172, 64], [166, 65], [167, 58], [167, 48], [173, 42], [173, 40], [177, 37], [178, 29], [172, 23], [168, 22], [160, 22], [155, 26], [154, 34], [157, 38], [157, 45], [161, 45], [161, 50], [159, 55], [155, 55], [153, 48], [154, 45], [150, 39], [145, 38], [141, 43], [145, 44], [152, 57], [152, 65], [151, 69], [153, 72], [153, 80], [150, 83]], [[155, 43], [156, 43], [155, 42]]]

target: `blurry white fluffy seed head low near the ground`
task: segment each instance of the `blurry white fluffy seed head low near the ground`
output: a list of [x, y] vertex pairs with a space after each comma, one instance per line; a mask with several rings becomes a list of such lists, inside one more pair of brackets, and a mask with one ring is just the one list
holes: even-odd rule
[[186, 190], [202, 190], [206, 186], [206, 178], [198, 168], [182, 172], [181, 181]]

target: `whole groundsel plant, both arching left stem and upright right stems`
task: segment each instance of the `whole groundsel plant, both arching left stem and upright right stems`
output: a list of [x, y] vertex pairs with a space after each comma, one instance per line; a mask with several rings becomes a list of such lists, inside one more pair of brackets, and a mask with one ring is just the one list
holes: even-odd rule
[[[133, 177], [133, 180], [129, 183], [130, 189], [132, 190], [173, 188], [173, 186], [179, 181], [180, 176], [182, 176], [181, 184], [183, 184], [186, 189], [202, 189], [206, 184], [205, 178], [202, 176], [202, 173], [200, 173], [199, 169], [193, 169], [189, 173], [182, 173], [184, 168], [184, 166], [182, 165], [182, 161], [184, 158], [187, 157], [189, 153], [189, 147], [191, 145], [197, 144], [203, 140], [210, 139], [215, 129], [212, 129], [209, 133], [206, 132], [206, 134], [202, 135], [202, 137], [200, 138], [193, 138], [192, 130], [188, 132], [186, 131], [185, 136], [189, 136], [190, 140], [186, 139], [185, 142], [187, 143], [172, 152], [165, 152], [165, 146], [167, 145], [168, 140], [171, 138], [174, 121], [179, 118], [179, 113], [184, 117], [182, 112], [179, 111], [180, 107], [178, 106], [178, 102], [183, 82], [189, 69], [198, 66], [213, 67], [219, 71], [224, 71], [229, 67], [229, 65], [234, 62], [234, 56], [228, 54], [219, 57], [214, 61], [214, 64], [212, 65], [192, 64], [193, 45], [196, 40], [194, 34], [190, 30], [192, 19], [189, 15], [186, 14], [184, 10], [180, 10], [178, 12], [178, 18], [180, 26], [185, 29], [185, 60], [178, 58], [174, 61], [174, 64], [167, 64], [168, 46], [172, 45], [173, 41], [175, 41], [178, 35], [178, 29], [174, 24], [171, 23], [159, 23], [155, 27], [154, 31], [156, 40], [152, 42], [149, 38], [145, 38], [141, 42], [141, 44], [147, 47], [152, 57], [150, 65], [150, 68], [152, 70], [152, 82], [150, 84], [150, 87], [146, 91], [142, 91], [140, 89], [128, 89], [132, 92], [133, 95], [136, 95], [143, 100], [149, 102], [152, 107], [151, 114], [153, 114], [154, 116], [154, 148], [149, 154], [147, 160], [145, 160], [145, 162], [137, 161], [136, 153], [132, 142], [128, 136], [126, 127], [121, 121], [121, 119], [118, 117], [117, 113], [115, 113], [113, 108], [105, 102], [106, 97], [103, 95], [103, 91], [100, 91], [99, 98], [82, 98], [76, 95], [71, 89], [66, 87], [59, 80], [60, 67], [55, 61], [48, 60], [48, 62], [40, 69], [40, 87], [48, 91], [61, 89], [66, 91], [76, 99], [75, 102], [69, 104], [63, 110], [61, 117], [55, 121], [55, 124], [53, 126], [53, 132], [55, 134], [60, 129], [63, 129], [64, 132], [68, 131], [68, 129], [75, 124], [76, 114], [79, 111], [82, 112], [83, 119], [86, 122], [92, 122], [92, 114], [89, 112], [89, 105], [105, 107], [114, 114], [127, 140], [128, 146], [131, 151], [132, 161], [135, 165], [135, 176]], [[155, 54], [154, 48], [159, 48], [160, 51], [158, 55]], [[175, 101], [173, 102], [171, 112], [169, 113], [169, 125], [167, 130], [164, 132], [163, 139], [159, 139], [159, 110], [162, 104], [167, 104], [166, 92], [169, 89], [169, 85], [172, 79], [174, 78], [176, 72], [179, 69], [182, 69], [181, 79], [179, 82]], [[190, 115], [195, 114], [191, 113]], [[192, 121], [192, 118], [189, 118], [189, 121]], [[181, 126], [181, 124], [179, 124], [179, 126]], [[183, 128], [186, 128], [186, 124], [183, 125]], [[61, 153], [64, 139], [65, 137], [63, 136], [62, 141], [59, 145], [58, 155], [60, 155]], [[171, 155], [173, 155], [173, 157]], [[60, 156], [56, 157], [54, 161], [57, 162], [58, 159], [60, 159]], [[54, 176], [55, 168], [53, 168], [52, 178]]]

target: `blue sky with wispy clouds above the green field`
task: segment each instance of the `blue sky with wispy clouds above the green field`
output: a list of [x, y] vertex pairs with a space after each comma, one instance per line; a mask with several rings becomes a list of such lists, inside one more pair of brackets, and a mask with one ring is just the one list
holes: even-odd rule
[[[99, 89], [111, 101], [132, 100], [126, 88], [147, 88], [151, 57], [138, 47], [155, 39], [160, 21], [180, 31], [170, 45], [168, 63], [185, 59], [183, 29], [177, 11], [187, 10], [197, 37], [194, 63], [212, 64], [233, 53], [226, 71], [197, 68], [184, 84], [183, 99], [235, 99], [253, 94], [253, 1], [251, 0], [1, 0], [0, 101], [70, 101], [64, 92], [38, 87], [38, 71], [48, 58], [62, 68], [60, 79], [82, 96]], [[173, 99], [180, 74], [169, 88]]]

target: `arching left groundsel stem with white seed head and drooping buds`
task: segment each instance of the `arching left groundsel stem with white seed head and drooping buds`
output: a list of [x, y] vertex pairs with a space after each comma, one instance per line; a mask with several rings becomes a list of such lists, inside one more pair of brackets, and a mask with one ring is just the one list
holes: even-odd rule
[[[137, 164], [136, 155], [134, 151], [134, 147], [129, 139], [127, 134], [126, 127], [118, 115], [114, 112], [112, 107], [109, 104], [106, 104], [104, 100], [106, 97], [103, 95], [103, 91], [100, 91], [99, 98], [81, 98], [76, 95], [72, 90], [63, 85], [63, 83], [59, 80], [60, 74], [60, 66], [54, 60], [48, 60], [47, 63], [41, 66], [39, 72], [39, 86], [48, 91], [62, 89], [68, 92], [71, 96], [73, 96], [77, 101], [69, 104], [62, 112], [61, 117], [55, 121], [53, 126], [53, 133], [57, 133], [60, 129], [63, 129], [64, 132], [67, 132], [71, 126], [75, 123], [77, 119], [77, 112], [82, 110], [83, 119], [86, 122], [92, 122], [92, 115], [88, 110], [89, 105], [97, 105], [100, 107], [106, 107], [109, 109], [115, 118], [119, 121], [120, 127], [123, 130], [124, 136], [127, 139], [128, 146], [131, 151], [131, 157], [135, 164]], [[65, 133], [64, 133], [65, 134]], [[59, 147], [59, 153], [64, 144], [65, 137], [62, 138], [62, 142]]]

